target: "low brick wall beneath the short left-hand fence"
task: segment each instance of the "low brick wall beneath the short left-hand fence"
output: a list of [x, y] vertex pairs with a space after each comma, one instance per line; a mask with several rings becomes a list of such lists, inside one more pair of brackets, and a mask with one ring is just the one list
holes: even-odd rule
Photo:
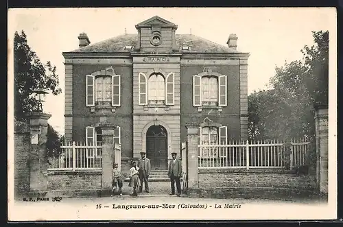
[[102, 171], [49, 171], [47, 196], [98, 196], [102, 189]]

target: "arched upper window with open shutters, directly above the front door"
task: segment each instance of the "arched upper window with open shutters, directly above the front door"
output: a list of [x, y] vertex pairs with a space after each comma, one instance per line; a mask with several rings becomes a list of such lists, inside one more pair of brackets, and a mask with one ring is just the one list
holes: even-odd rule
[[174, 73], [152, 73], [149, 77], [139, 73], [139, 105], [174, 105], [174, 86]]

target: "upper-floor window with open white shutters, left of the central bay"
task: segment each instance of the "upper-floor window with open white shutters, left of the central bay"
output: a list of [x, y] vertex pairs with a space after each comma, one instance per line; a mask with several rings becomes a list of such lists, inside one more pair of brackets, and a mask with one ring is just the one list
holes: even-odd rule
[[120, 106], [120, 75], [86, 75], [86, 106], [109, 102]]

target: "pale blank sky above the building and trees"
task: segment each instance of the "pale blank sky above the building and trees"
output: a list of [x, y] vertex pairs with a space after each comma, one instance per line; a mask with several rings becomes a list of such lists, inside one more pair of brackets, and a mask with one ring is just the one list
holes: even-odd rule
[[[176, 34], [194, 34], [226, 45], [237, 34], [237, 50], [249, 52], [248, 94], [266, 88], [275, 67], [300, 60], [305, 45], [313, 45], [311, 31], [335, 32], [334, 8], [27, 8], [8, 12], [8, 39], [24, 30], [28, 45], [41, 62], [57, 67], [62, 94], [47, 95], [43, 106], [51, 126], [64, 134], [64, 58], [78, 49], [78, 35], [91, 44], [137, 33], [134, 25], [160, 16], [178, 25]], [[331, 36], [332, 37], [332, 36]], [[10, 71], [10, 69], [9, 69]]]

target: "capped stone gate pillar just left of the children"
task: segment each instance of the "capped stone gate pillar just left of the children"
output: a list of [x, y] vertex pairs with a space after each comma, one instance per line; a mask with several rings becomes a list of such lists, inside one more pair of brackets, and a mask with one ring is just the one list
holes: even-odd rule
[[113, 161], [115, 158], [114, 136], [117, 126], [112, 123], [100, 123], [102, 129], [102, 195], [112, 189]]

